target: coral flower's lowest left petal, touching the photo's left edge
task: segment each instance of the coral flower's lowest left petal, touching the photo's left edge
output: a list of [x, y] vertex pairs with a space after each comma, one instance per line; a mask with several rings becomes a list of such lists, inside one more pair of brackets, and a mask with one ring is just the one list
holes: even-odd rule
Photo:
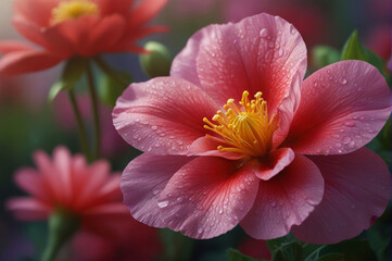
[[60, 62], [61, 59], [45, 51], [29, 50], [11, 52], [0, 59], [0, 73], [7, 76], [15, 76], [42, 71]]

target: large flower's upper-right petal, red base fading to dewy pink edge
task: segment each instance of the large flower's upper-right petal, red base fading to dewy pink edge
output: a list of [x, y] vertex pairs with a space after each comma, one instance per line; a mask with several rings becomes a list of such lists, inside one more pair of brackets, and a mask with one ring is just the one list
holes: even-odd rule
[[342, 61], [307, 77], [284, 147], [306, 154], [352, 152], [369, 142], [391, 112], [391, 92], [378, 70]]

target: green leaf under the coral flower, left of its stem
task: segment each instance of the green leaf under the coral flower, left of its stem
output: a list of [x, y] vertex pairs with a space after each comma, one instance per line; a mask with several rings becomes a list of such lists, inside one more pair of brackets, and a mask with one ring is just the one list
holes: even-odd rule
[[49, 102], [52, 102], [60, 91], [71, 89], [76, 82], [81, 78], [87, 63], [88, 60], [78, 57], [74, 57], [68, 60], [60, 79], [55, 82], [49, 90]]

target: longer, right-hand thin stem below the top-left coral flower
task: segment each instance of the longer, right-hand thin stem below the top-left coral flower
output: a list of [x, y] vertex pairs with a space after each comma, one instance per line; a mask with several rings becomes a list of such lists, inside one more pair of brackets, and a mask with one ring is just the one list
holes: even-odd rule
[[90, 64], [87, 65], [86, 73], [87, 73], [87, 82], [88, 82], [88, 88], [89, 88], [90, 100], [91, 100], [91, 111], [92, 111], [92, 117], [93, 117], [92, 121], [93, 121], [93, 129], [94, 129], [92, 160], [96, 160], [99, 158], [99, 152], [100, 152], [100, 147], [101, 147], [101, 129], [100, 129], [100, 117], [99, 117], [97, 90], [94, 87], [94, 80], [93, 80], [93, 75], [92, 75]]

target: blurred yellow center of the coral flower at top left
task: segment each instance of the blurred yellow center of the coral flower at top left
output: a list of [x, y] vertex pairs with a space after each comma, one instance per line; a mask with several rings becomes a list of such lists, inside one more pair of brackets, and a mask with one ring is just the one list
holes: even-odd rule
[[61, 1], [56, 8], [52, 10], [51, 25], [59, 24], [66, 20], [75, 20], [83, 15], [97, 15], [99, 7], [89, 0], [71, 0]]

